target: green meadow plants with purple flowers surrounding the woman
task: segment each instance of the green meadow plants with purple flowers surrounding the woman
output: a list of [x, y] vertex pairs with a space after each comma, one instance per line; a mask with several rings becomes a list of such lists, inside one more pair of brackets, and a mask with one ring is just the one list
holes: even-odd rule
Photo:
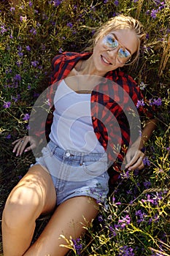
[[[93, 31], [114, 15], [138, 18], [147, 31], [136, 69], [130, 72], [158, 126], [147, 143], [142, 173], [124, 173], [112, 188], [113, 199], [90, 225], [85, 238], [67, 240], [69, 255], [169, 255], [169, 0], [1, 1], [1, 211], [9, 191], [34, 161], [16, 158], [11, 143], [28, 132], [26, 114], [47, 86], [53, 57], [81, 52]], [[8, 159], [8, 161], [7, 161]], [[111, 197], [111, 198], [112, 198]], [[81, 246], [80, 246], [81, 245]]]

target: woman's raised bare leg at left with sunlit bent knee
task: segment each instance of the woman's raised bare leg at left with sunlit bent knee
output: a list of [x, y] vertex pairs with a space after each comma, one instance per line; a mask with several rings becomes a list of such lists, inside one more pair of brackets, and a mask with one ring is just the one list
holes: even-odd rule
[[34, 165], [12, 189], [4, 208], [4, 256], [21, 256], [26, 252], [31, 244], [37, 217], [52, 211], [55, 203], [52, 178], [40, 165]]

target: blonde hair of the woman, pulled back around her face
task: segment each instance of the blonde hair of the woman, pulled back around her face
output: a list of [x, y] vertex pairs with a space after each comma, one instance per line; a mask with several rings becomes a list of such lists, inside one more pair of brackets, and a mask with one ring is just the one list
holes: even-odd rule
[[92, 39], [90, 40], [90, 45], [86, 48], [86, 51], [93, 51], [98, 39], [104, 37], [105, 34], [109, 34], [110, 31], [117, 31], [119, 29], [131, 29], [136, 33], [136, 37], [138, 39], [138, 48], [136, 52], [133, 54], [133, 59], [131, 64], [139, 60], [139, 49], [141, 45], [143, 45], [146, 34], [144, 33], [144, 28], [142, 23], [139, 20], [136, 20], [130, 16], [118, 15], [114, 18], [109, 19], [106, 23], [104, 23], [101, 27], [99, 27], [95, 34], [93, 34]]

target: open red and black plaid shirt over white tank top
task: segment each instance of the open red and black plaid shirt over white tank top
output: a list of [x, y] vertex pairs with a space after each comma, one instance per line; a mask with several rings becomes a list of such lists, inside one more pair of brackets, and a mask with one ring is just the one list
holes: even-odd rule
[[[53, 109], [53, 97], [59, 84], [58, 81], [66, 78], [69, 72], [80, 59], [88, 59], [91, 53], [62, 53], [55, 56], [52, 62], [52, 75], [50, 77], [50, 86], [47, 89], [47, 99]], [[57, 83], [58, 82], [58, 83]], [[107, 151], [109, 162], [112, 163], [110, 176], [116, 171], [121, 171], [123, 158], [131, 142], [131, 128], [128, 125], [128, 119], [124, 109], [128, 109], [130, 101], [136, 103], [142, 100], [143, 96], [136, 82], [124, 72], [118, 69], [108, 72], [104, 80], [93, 89], [91, 93], [91, 116], [93, 129], [98, 141]], [[53, 111], [52, 111], [53, 112]], [[145, 108], [138, 109], [139, 116], [153, 118], [152, 113]], [[46, 128], [52, 122], [53, 115], [47, 118]], [[39, 136], [45, 132], [45, 122], [39, 126], [36, 135]], [[46, 129], [47, 136], [50, 129]]]

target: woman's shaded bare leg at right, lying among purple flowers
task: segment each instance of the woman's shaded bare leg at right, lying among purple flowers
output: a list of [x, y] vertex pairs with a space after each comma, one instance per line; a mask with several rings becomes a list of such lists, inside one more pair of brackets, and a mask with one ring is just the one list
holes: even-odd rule
[[[96, 201], [88, 197], [73, 197], [61, 203], [55, 210], [53, 217], [39, 236], [38, 240], [28, 249], [24, 256], [63, 256], [69, 251], [60, 244], [66, 244], [66, 238], [78, 238], [82, 234], [83, 226], [87, 226], [98, 214]], [[85, 218], [85, 219], [84, 219]]]

